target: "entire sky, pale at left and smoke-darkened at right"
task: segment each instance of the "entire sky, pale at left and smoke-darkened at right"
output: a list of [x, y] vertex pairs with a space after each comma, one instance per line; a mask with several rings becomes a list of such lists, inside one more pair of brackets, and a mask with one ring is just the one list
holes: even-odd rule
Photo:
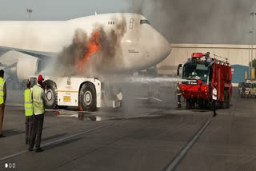
[[[67, 20], [110, 12], [146, 16], [170, 42], [249, 44], [256, 0], [0, 0], [0, 20]], [[254, 38], [255, 39], [255, 38]], [[256, 42], [255, 42], [256, 43]]]

